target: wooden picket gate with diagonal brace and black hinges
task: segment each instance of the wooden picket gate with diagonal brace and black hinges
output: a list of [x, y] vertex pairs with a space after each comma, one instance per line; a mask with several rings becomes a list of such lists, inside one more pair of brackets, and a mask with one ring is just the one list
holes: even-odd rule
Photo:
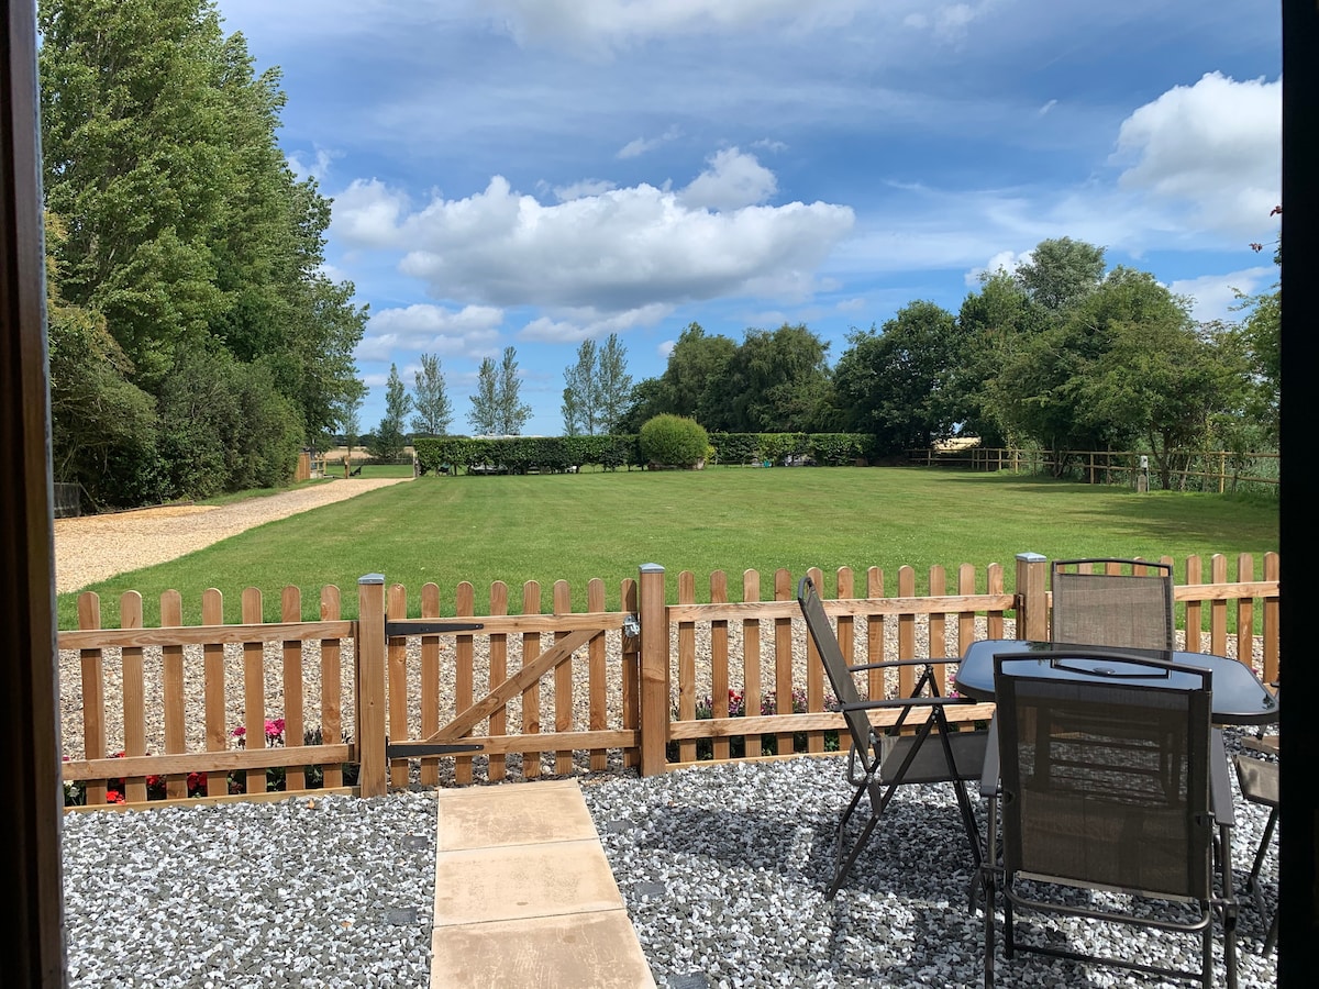
[[[454, 781], [474, 770], [506, 778], [565, 775], [578, 753], [587, 766], [608, 767], [608, 750], [625, 765], [638, 753], [638, 638], [634, 611], [604, 611], [604, 584], [587, 588], [587, 611], [571, 611], [567, 582], [553, 589], [554, 613], [541, 613], [536, 582], [522, 588], [522, 614], [508, 614], [508, 588], [491, 587], [492, 613], [476, 616], [471, 584], [460, 584], [456, 616], [441, 618], [439, 589], [422, 588], [419, 618], [406, 614], [406, 592], [389, 588], [384, 622], [389, 717], [385, 760], [390, 786], [406, 786], [409, 764], [421, 761], [422, 785], [439, 782], [441, 758], [452, 757]], [[636, 582], [621, 601], [636, 607]], [[546, 641], [546, 638], [549, 641]], [[419, 640], [419, 641], [418, 641]], [[551, 729], [542, 725], [550, 708]], [[550, 757], [553, 761], [550, 761]], [[542, 764], [542, 760], [545, 762]]]

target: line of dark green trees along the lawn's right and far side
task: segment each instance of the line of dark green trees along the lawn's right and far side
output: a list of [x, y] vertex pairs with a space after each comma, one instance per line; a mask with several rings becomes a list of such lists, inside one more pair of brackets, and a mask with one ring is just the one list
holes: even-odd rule
[[1241, 297], [1239, 323], [1202, 323], [1190, 299], [1104, 253], [1043, 240], [955, 314], [915, 301], [853, 331], [832, 367], [806, 326], [737, 343], [691, 323], [620, 430], [667, 413], [712, 433], [865, 433], [881, 458], [962, 433], [1046, 450], [1058, 472], [1066, 451], [1140, 446], [1165, 487], [1195, 450], [1275, 448], [1278, 291]]

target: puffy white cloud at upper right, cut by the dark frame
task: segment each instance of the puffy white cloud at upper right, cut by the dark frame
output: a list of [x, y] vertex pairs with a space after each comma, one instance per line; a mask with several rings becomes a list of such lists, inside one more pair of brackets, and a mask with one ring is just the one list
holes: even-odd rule
[[1208, 73], [1146, 103], [1117, 136], [1120, 183], [1188, 210], [1202, 227], [1250, 236], [1269, 227], [1282, 177], [1282, 82]]

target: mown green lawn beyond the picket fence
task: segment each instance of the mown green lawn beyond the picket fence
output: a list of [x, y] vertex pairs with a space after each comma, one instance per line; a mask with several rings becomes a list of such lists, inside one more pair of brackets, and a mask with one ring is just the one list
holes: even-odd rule
[[[1022, 551], [1050, 558], [1227, 554], [1278, 549], [1278, 506], [1212, 494], [1132, 491], [1057, 483], [1012, 475], [919, 468], [716, 468], [700, 472], [598, 472], [547, 476], [421, 477], [293, 516], [226, 539], [182, 559], [124, 574], [88, 588], [102, 597], [103, 621], [117, 624], [117, 600], [142, 593], [145, 621], [157, 621], [162, 591], [183, 596], [185, 621], [197, 622], [200, 593], [216, 587], [227, 621], [237, 621], [243, 588], [265, 596], [268, 620], [280, 611], [286, 584], [302, 588], [303, 617], [318, 617], [319, 589], [343, 591], [344, 616], [356, 617], [356, 582], [384, 574], [408, 588], [410, 612], [421, 587], [441, 588], [452, 613], [454, 588], [471, 582], [477, 611], [495, 580], [509, 585], [510, 609], [521, 584], [538, 580], [550, 607], [551, 585], [566, 579], [574, 607], [584, 608], [586, 583], [605, 582], [607, 607], [619, 607], [619, 585], [642, 563], [667, 571], [669, 597], [677, 574], [696, 575], [706, 599], [708, 574], [724, 570], [740, 596], [744, 570], [761, 574], [762, 597], [772, 575], [797, 578], [820, 567], [832, 592], [832, 571], [884, 570], [896, 593], [897, 570], [911, 566], [918, 592], [934, 564], [971, 563], [983, 584], [989, 563], [1006, 570]], [[1207, 560], [1206, 560], [1207, 562]], [[1178, 575], [1182, 579], [1182, 575]], [[981, 588], [983, 589], [983, 588]], [[77, 625], [74, 595], [59, 597], [59, 626]]]

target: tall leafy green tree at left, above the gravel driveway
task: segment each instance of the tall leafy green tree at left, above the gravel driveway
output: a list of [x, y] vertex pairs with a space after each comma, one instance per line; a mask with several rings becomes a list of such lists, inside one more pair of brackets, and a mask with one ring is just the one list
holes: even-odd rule
[[[330, 203], [278, 148], [278, 71], [255, 74], [243, 37], [224, 37], [210, 0], [41, 0], [38, 18], [62, 298], [104, 320], [124, 380], [152, 398], [165, 397], [187, 355], [227, 355], [216, 367], [230, 386], [273, 390], [303, 442], [315, 442], [356, 380], [365, 309], [351, 284], [322, 272]], [[202, 422], [171, 427], [194, 434]], [[158, 455], [193, 448], [162, 443]], [[138, 452], [153, 455], [145, 438]], [[222, 489], [251, 476], [251, 458], [222, 460], [232, 471]], [[171, 483], [214, 483], [214, 472], [158, 467]]]

